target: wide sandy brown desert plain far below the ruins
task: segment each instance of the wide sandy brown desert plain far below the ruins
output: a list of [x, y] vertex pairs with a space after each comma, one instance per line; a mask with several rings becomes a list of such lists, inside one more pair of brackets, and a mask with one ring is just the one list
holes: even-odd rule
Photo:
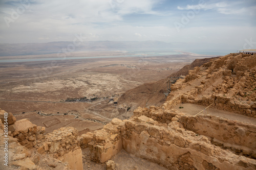
[[[79, 52], [69, 57], [120, 54], [122, 52], [83, 54]], [[16, 58], [42, 57], [54, 57], [54, 55]], [[101, 123], [110, 122], [113, 117], [124, 114], [127, 108], [131, 107], [116, 106], [110, 101], [111, 98], [119, 98], [125, 91], [144, 83], [166, 78], [194, 59], [203, 57], [205, 56], [190, 54], [160, 57], [138, 55], [138, 57], [0, 63], [0, 105], [2, 109], [16, 115], [17, 119], [30, 118], [32, 123], [45, 126], [46, 132], [62, 126], [73, 126], [80, 132], [93, 131], [101, 128], [103, 126]], [[65, 102], [67, 98], [84, 96], [88, 99], [97, 97], [102, 100], [89, 103]], [[39, 115], [38, 112], [48, 116]], [[79, 119], [74, 119], [71, 113], [77, 114]], [[71, 117], [67, 118], [67, 116]], [[56, 120], [56, 124], [49, 127], [44, 125], [51, 120], [53, 122]], [[95, 123], [94, 120], [100, 123]]]

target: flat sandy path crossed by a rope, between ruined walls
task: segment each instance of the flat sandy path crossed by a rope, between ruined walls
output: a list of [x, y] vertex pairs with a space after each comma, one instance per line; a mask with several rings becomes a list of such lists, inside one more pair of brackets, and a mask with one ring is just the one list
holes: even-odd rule
[[[179, 107], [183, 107], [183, 108], [180, 109]], [[190, 115], [196, 115], [197, 113], [204, 110], [205, 108], [206, 106], [189, 104], [189, 103], [179, 104], [175, 107], [175, 109]], [[203, 112], [203, 114], [207, 114], [207, 109]], [[224, 110], [219, 110], [216, 108], [209, 108], [208, 114], [219, 116], [219, 117], [225, 117], [229, 120], [238, 120], [240, 122], [256, 125], [256, 118], [248, 117], [242, 114], [237, 114], [237, 113], [228, 112]]]

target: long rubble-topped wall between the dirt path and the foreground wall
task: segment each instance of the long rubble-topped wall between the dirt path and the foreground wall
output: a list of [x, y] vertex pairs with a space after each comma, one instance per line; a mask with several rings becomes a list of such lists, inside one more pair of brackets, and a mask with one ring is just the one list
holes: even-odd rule
[[207, 136], [212, 144], [229, 149], [236, 154], [256, 159], [255, 125], [243, 124], [211, 115], [190, 116], [177, 113], [174, 109], [173, 111], [160, 111], [159, 107], [154, 106], [150, 109], [139, 108], [134, 111], [134, 115], [145, 115], [167, 125], [172, 124], [173, 119], [176, 119], [179, 123], [178, 127]]

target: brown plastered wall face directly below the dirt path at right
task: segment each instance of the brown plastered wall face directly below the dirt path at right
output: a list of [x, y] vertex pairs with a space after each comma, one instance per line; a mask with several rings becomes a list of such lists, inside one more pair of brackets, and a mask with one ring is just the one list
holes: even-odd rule
[[256, 159], [256, 126], [210, 115], [180, 116], [187, 130], [209, 137], [212, 143]]

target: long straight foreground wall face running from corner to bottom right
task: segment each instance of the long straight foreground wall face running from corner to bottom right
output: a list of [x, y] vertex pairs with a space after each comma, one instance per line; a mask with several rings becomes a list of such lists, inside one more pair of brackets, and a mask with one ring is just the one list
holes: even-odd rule
[[[204, 136], [146, 116], [125, 122], [123, 149], [168, 169], [253, 169], [256, 161], [226, 152]], [[248, 162], [247, 162], [248, 161]], [[246, 163], [245, 163], [246, 162]]]

